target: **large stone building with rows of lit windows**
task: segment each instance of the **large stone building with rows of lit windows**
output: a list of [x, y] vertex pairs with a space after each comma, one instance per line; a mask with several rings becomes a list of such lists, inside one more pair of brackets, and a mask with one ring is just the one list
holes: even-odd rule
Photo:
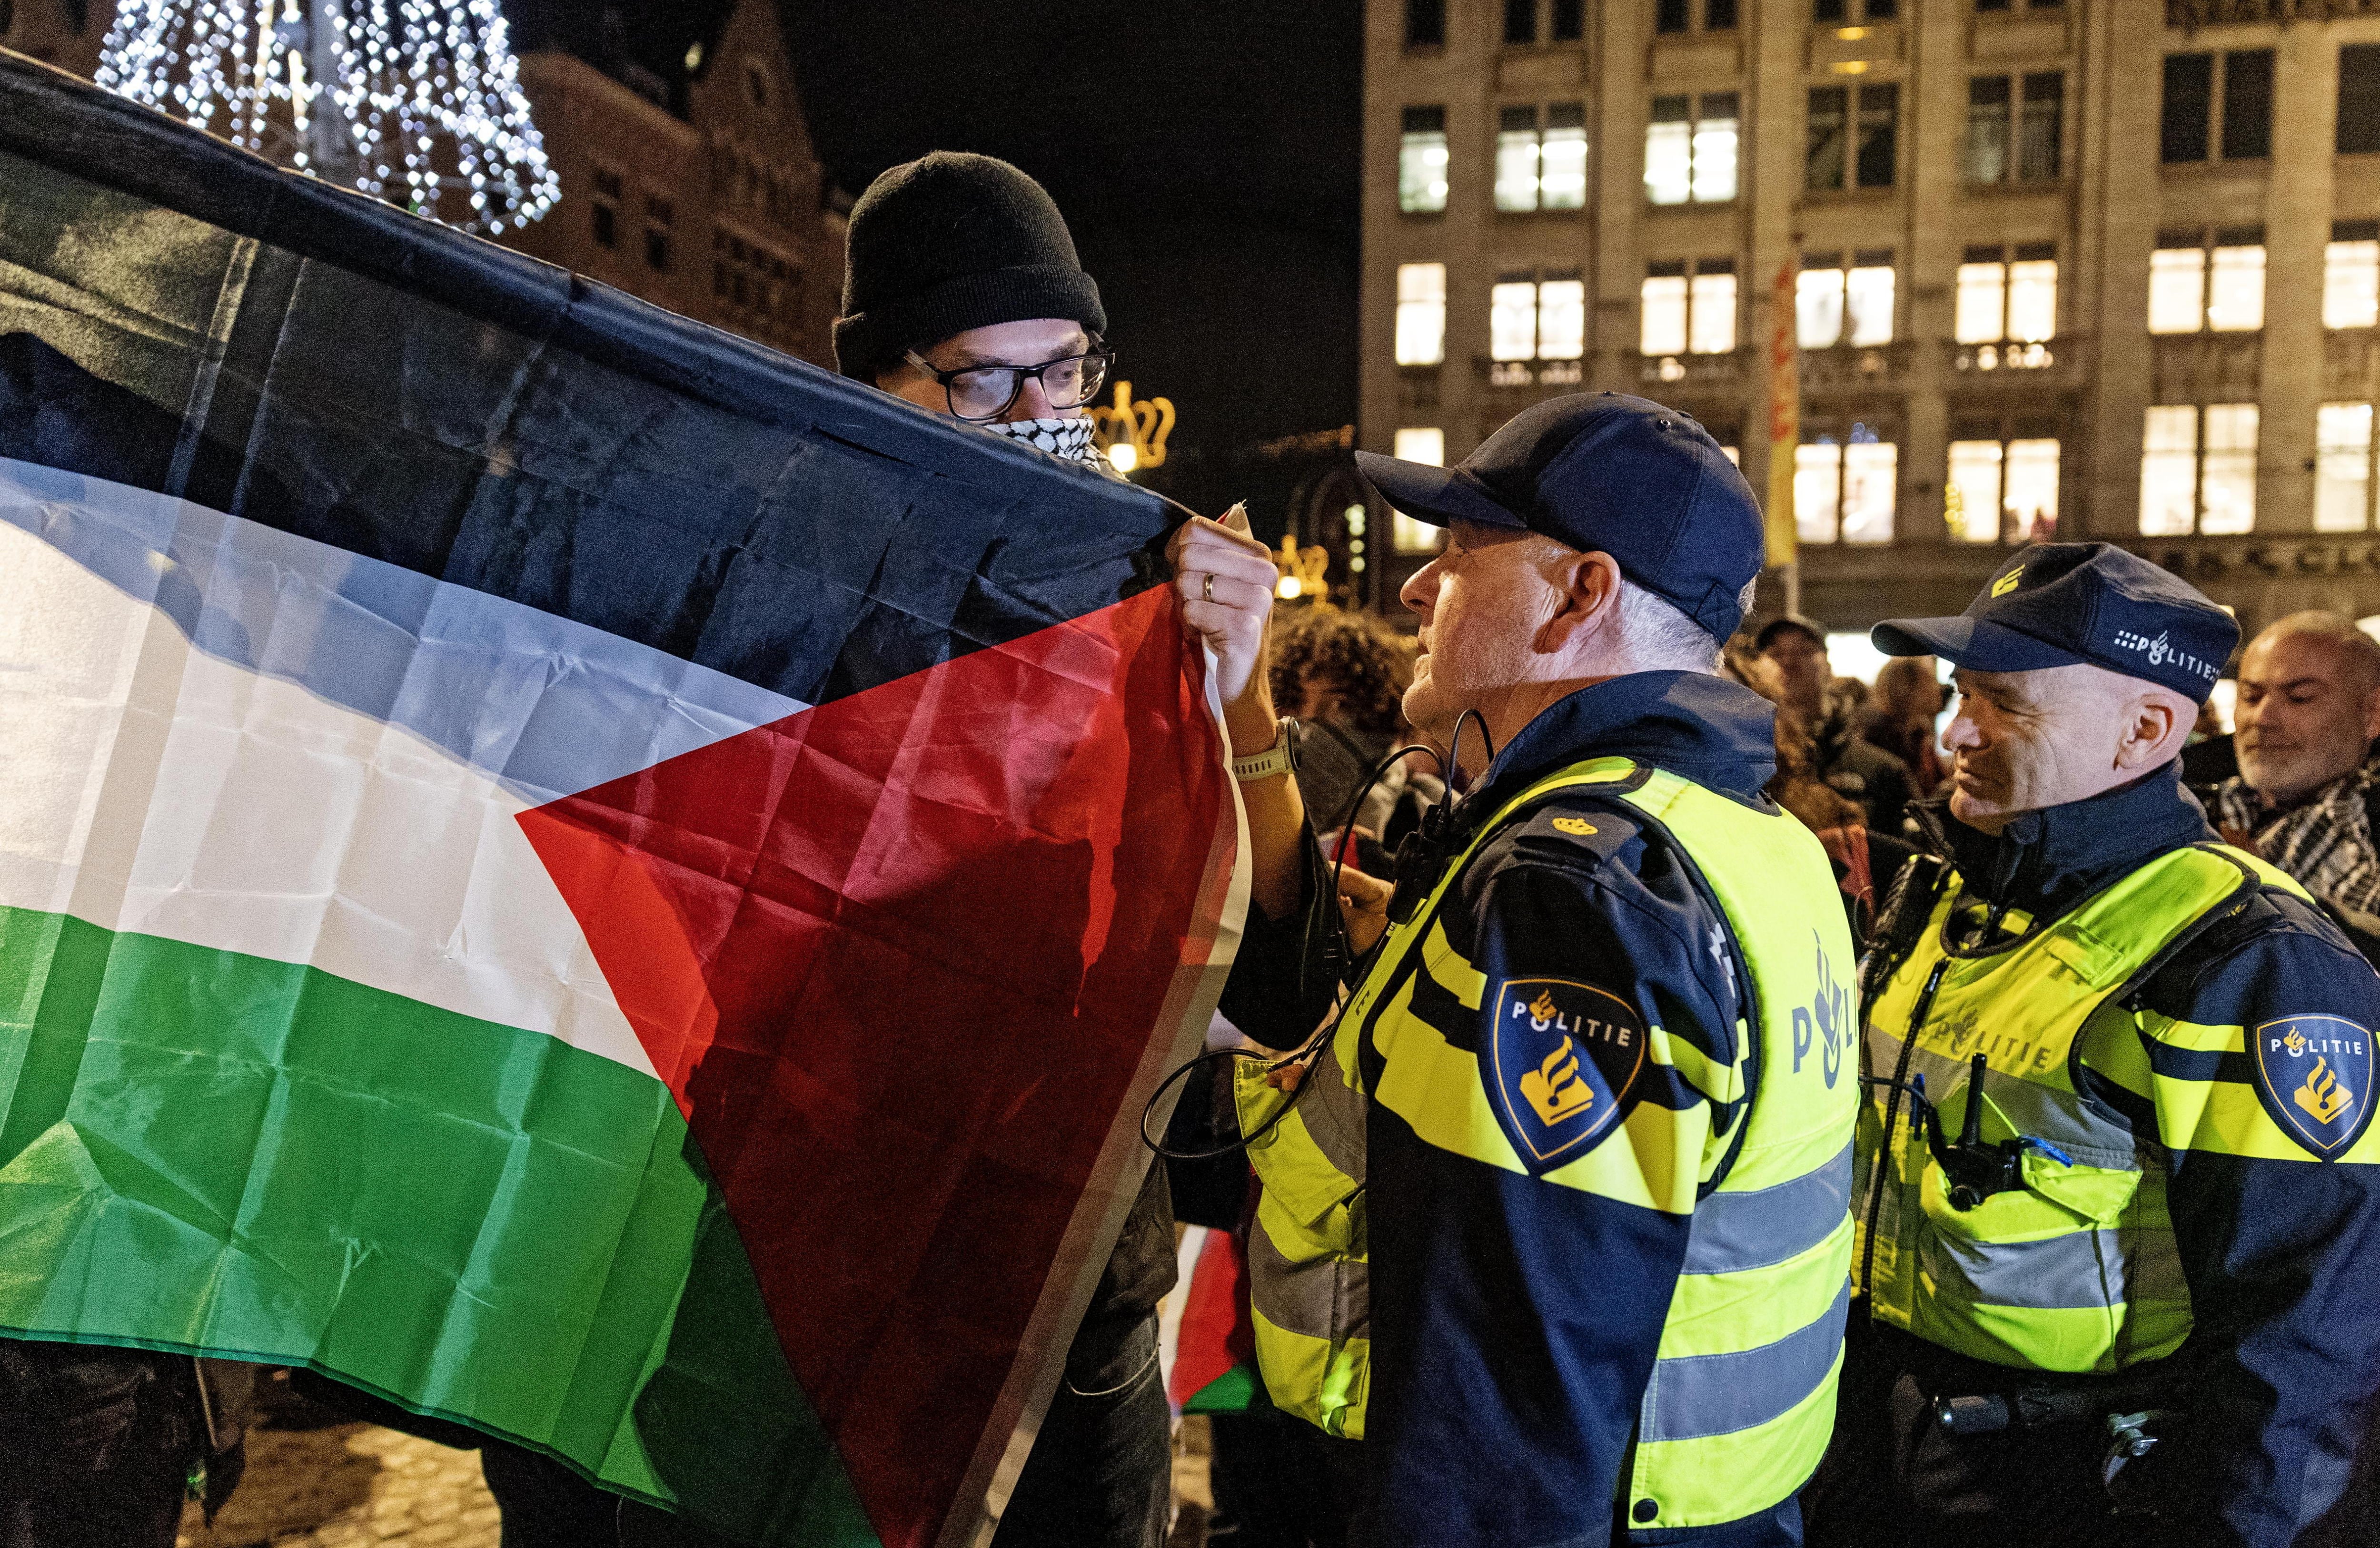
[[[2380, 613], [2380, 0], [1371, 0], [1359, 445], [1695, 414], [1804, 611], [2121, 542], [2247, 630]], [[1376, 509], [1361, 585], [1430, 533]], [[1775, 609], [1764, 585], [1764, 606]]]

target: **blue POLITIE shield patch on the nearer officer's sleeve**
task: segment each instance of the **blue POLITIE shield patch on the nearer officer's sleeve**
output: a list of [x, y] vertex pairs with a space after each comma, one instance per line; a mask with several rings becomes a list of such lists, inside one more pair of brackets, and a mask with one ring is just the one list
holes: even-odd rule
[[1545, 1172], [1618, 1122], [1645, 1068], [1645, 1022], [1595, 984], [1511, 977], [1497, 989], [1480, 1063], [1521, 1165]]

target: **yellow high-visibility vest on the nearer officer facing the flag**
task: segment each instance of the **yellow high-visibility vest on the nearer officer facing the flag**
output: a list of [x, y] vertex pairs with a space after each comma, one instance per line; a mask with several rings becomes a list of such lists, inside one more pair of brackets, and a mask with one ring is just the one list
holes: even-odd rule
[[[1433, 894], [1390, 930], [1349, 996], [1333, 1044], [1292, 1113], [1250, 1146], [1264, 1182], [1250, 1241], [1257, 1355], [1273, 1403], [1330, 1434], [1364, 1434], [1368, 1286], [1364, 1232], [1364, 1103], [1388, 1103], [1426, 1144], [1528, 1172], [1490, 1108], [1478, 1053], [1454, 1049], [1411, 1013], [1418, 973], [1478, 1011], [1488, 989], [1440, 923], [1480, 844], [1528, 808], [1571, 789], [1623, 801], [1666, 830], [1726, 918], [1752, 980], [1756, 1015], [1737, 1058], [1716, 1065], [1659, 1025], [1647, 1058], [1714, 1103], [1749, 1096], [1740, 1125], [1692, 1139], [1685, 1122], [1637, 1103], [1576, 1160], [1540, 1175], [1642, 1208], [1692, 1215], [1637, 1443], [1621, 1489], [1640, 1527], [1706, 1527], [1768, 1510], [1816, 1470], [1835, 1422], [1852, 1265], [1854, 951], [1842, 896], [1818, 839], [1780, 811], [1754, 811], [1673, 773], [1626, 759], [1573, 763], [1514, 797], [1464, 849]], [[1726, 970], [1714, 958], [1714, 970]], [[1371, 1091], [1359, 1049], [1378, 1058]], [[1254, 1132], [1280, 1094], [1242, 1068], [1240, 1122]], [[1704, 1196], [1702, 1189], [1718, 1179]]]

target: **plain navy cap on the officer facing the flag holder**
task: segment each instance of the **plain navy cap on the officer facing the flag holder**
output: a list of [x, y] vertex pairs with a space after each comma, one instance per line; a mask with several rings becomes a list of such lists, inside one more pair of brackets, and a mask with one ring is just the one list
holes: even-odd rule
[[1621, 575], [1726, 640], [1761, 573], [1761, 506], [1690, 414], [1626, 392], [1573, 392], [1514, 414], [1452, 468], [1357, 452], [1414, 521], [1528, 528], [1602, 549]]

